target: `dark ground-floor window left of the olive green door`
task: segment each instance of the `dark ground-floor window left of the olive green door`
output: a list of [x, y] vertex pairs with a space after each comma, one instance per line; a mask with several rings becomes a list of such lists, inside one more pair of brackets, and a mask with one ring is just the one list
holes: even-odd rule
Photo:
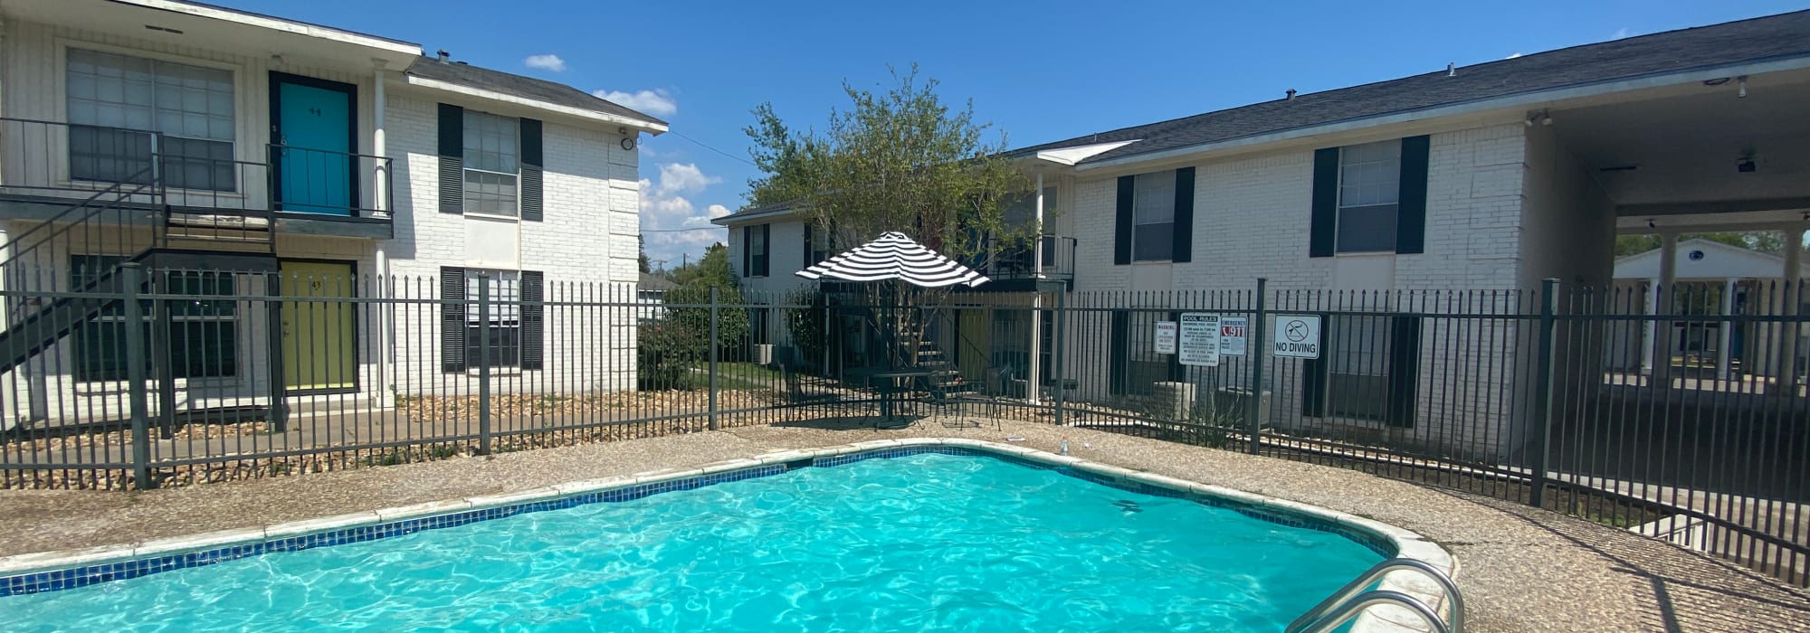
[[[71, 259], [71, 289], [110, 291], [107, 284], [118, 271], [119, 255], [74, 255]], [[168, 293], [195, 295], [194, 300], [170, 300], [170, 367], [176, 378], [221, 378], [239, 371], [239, 304], [232, 297], [233, 275], [212, 271], [168, 273]], [[147, 306], [141, 336], [145, 336], [145, 371], [150, 374], [150, 324], [154, 311]], [[100, 316], [81, 324], [74, 336], [76, 380], [127, 380], [125, 365], [125, 306], [112, 304]]]

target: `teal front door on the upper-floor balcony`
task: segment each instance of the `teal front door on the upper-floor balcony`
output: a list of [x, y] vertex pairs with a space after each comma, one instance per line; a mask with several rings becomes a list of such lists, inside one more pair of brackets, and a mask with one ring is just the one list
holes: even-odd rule
[[272, 76], [272, 168], [277, 210], [353, 215], [358, 157], [353, 156], [349, 83]]

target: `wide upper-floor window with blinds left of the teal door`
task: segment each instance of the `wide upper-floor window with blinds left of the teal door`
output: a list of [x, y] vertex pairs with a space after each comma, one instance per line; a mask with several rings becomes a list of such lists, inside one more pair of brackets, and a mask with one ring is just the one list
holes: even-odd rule
[[[233, 192], [232, 71], [69, 49], [69, 177]], [[152, 132], [161, 137], [154, 146]]]

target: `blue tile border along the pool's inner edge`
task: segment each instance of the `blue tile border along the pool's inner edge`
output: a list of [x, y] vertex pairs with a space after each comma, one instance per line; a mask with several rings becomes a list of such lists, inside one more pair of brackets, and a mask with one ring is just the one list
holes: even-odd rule
[[[1229, 497], [1213, 496], [1213, 494], [1207, 494], [1207, 492], [1176, 490], [1176, 488], [1171, 488], [1171, 487], [1160, 487], [1160, 485], [1151, 485], [1151, 483], [1144, 483], [1144, 481], [1128, 481], [1128, 479], [1117, 477], [1117, 476], [1097, 474], [1097, 472], [1091, 472], [1091, 470], [1082, 470], [1082, 468], [1075, 468], [1075, 467], [1068, 467], [1068, 465], [1052, 465], [1052, 463], [1037, 461], [1037, 459], [1026, 459], [1026, 458], [1021, 458], [1021, 456], [1015, 456], [1015, 454], [994, 452], [994, 450], [985, 450], [985, 449], [976, 449], [976, 447], [936, 445], [936, 443], [903, 445], [903, 447], [869, 449], [869, 450], [854, 450], [854, 452], [831, 454], [831, 456], [816, 456], [816, 458], [798, 458], [798, 459], [793, 459], [791, 463], [809, 459], [811, 467], [824, 467], [824, 468], [827, 468], [827, 467], [843, 467], [843, 465], [851, 465], [851, 463], [856, 463], [856, 461], [865, 461], [865, 459], [892, 459], [892, 458], [909, 458], [909, 456], [918, 456], [918, 454], [992, 458], [992, 459], [1008, 461], [1008, 463], [1014, 463], [1014, 465], [1019, 465], [1019, 467], [1039, 468], [1039, 470], [1055, 470], [1055, 472], [1070, 476], [1070, 477], [1077, 477], [1077, 479], [1082, 479], [1082, 481], [1091, 481], [1091, 483], [1111, 487], [1111, 488], [1119, 488], [1119, 490], [1149, 494], [1149, 496], [1160, 496], [1160, 497], [1189, 499], [1189, 501], [1195, 501], [1195, 503], [1200, 503], [1200, 505], [1207, 505], [1207, 506], [1215, 506], [1215, 508], [1234, 510], [1238, 514], [1243, 514], [1247, 517], [1260, 519], [1260, 521], [1269, 521], [1269, 523], [1276, 523], [1276, 524], [1283, 524], [1283, 526], [1292, 526], [1292, 528], [1309, 528], [1309, 530], [1330, 532], [1330, 534], [1338, 534], [1341, 537], [1347, 537], [1350, 541], [1356, 541], [1356, 543], [1370, 548], [1377, 555], [1383, 555], [1383, 557], [1394, 557], [1394, 555], [1397, 555], [1397, 546], [1396, 546], [1396, 543], [1392, 539], [1388, 539], [1385, 535], [1379, 535], [1379, 534], [1374, 534], [1370, 530], [1363, 530], [1363, 528], [1358, 528], [1358, 526], [1350, 526], [1350, 524], [1339, 523], [1339, 521], [1330, 521], [1330, 519], [1323, 519], [1323, 517], [1312, 517], [1312, 515], [1300, 514], [1300, 512], [1289, 512], [1285, 508], [1262, 506], [1258, 503], [1242, 501], [1242, 499], [1229, 499]], [[661, 494], [661, 492], [693, 490], [693, 488], [700, 488], [700, 487], [708, 487], [708, 485], [717, 485], [717, 483], [740, 481], [740, 479], [757, 479], [757, 477], [767, 477], [767, 476], [775, 476], [775, 474], [784, 474], [787, 470], [793, 470], [791, 463], [784, 463], [784, 461], [760, 463], [760, 465], [751, 465], [751, 467], [746, 467], [746, 468], [724, 470], [724, 472], [711, 472], [711, 474], [700, 474], [700, 476], [681, 477], [681, 479], [662, 479], [662, 481], [648, 481], [648, 483], [632, 483], [632, 485], [624, 485], [624, 487], [617, 487], [617, 488], [608, 488], [608, 490], [576, 492], [576, 494], [568, 494], [568, 496], [557, 496], [557, 497], [547, 497], [547, 499], [532, 499], [532, 501], [523, 501], [523, 503], [514, 503], [514, 505], [501, 505], [501, 506], [489, 506], [489, 508], [471, 508], [471, 510], [438, 514], [438, 515], [409, 517], [409, 519], [384, 521], [384, 523], [375, 523], [375, 524], [358, 524], [358, 526], [348, 526], [348, 528], [329, 528], [329, 530], [315, 532], [315, 534], [299, 534], [299, 535], [286, 535], [286, 537], [264, 539], [261, 543], [237, 543], [237, 544], [228, 544], [228, 546], [205, 548], [205, 550], [199, 550], [199, 552], [172, 552], [172, 553], [152, 555], [152, 557], [143, 557], [143, 559], [130, 559], [130, 561], [112, 561], [112, 562], [83, 564], [83, 566], [72, 566], [72, 568], [62, 568], [62, 570], [16, 573], [16, 575], [0, 577], [0, 597], [24, 595], [24, 593], [40, 593], [40, 591], [72, 590], [72, 588], [81, 588], [81, 586], [90, 586], [90, 584], [100, 584], [100, 582], [136, 579], [136, 577], [143, 577], [143, 575], [150, 575], [150, 573], [159, 573], [159, 572], [174, 572], [174, 570], [185, 570], [185, 568], [208, 566], [208, 564], [215, 564], [215, 562], [226, 562], [226, 561], [235, 561], [235, 559], [244, 559], [244, 557], [253, 557], [253, 555], [262, 555], [262, 553], [272, 553], [272, 552], [300, 552], [300, 550], [324, 548], [324, 546], [335, 546], [335, 544], [376, 541], [376, 539], [387, 539], [387, 537], [398, 537], [398, 535], [416, 534], [416, 532], [422, 532], [422, 530], [440, 530], [440, 528], [452, 528], [452, 526], [462, 526], [462, 524], [476, 523], [476, 521], [503, 519], [503, 517], [512, 517], [512, 515], [529, 514], [529, 512], [563, 510], [563, 508], [572, 508], [572, 506], [581, 506], [581, 505], [592, 505], [592, 503], [632, 501], [632, 499], [641, 499], [641, 497], [648, 497], [648, 496]]]

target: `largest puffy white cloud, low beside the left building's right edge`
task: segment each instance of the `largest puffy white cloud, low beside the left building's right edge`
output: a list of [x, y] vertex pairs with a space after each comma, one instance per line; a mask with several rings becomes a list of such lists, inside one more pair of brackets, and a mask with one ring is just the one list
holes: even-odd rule
[[[666, 163], [659, 166], [657, 183], [641, 179], [641, 228], [646, 231], [648, 259], [664, 260], [666, 268], [679, 266], [686, 259], [697, 260], [704, 248], [715, 242], [728, 242], [729, 233], [711, 224], [711, 219], [729, 215], [724, 204], [708, 204], [699, 212], [688, 195], [700, 195], [722, 177], [708, 175], [691, 163]], [[682, 228], [700, 228], [697, 231], [672, 231]]]

